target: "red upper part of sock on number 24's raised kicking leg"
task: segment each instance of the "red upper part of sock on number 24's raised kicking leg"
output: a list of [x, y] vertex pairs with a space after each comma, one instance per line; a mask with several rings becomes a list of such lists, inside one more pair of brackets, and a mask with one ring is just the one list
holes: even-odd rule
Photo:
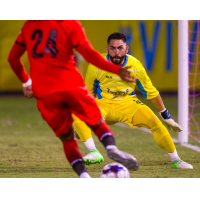
[[99, 126], [94, 131], [95, 135], [99, 138], [100, 141], [107, 135], [114, 137], [113, 132], [105, 122], [101, 122]]

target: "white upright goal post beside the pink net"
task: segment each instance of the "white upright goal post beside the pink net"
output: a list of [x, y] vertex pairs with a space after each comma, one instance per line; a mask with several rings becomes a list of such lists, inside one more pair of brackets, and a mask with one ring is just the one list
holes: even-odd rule
[[178, 133], [180, 143], [188, 143], [189, 76], [188, 76], [188, 20], [178, 20]]

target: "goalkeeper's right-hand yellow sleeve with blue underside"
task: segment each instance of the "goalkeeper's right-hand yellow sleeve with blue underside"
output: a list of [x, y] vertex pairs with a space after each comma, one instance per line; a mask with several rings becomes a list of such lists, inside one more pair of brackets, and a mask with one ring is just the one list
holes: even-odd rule
[[140, 89], [141, 93], [145, 99], [153, 99], [159, 95], [158, 90], [153, 86], [150, 78], [148, 77], [144, 67], [138, 61], [140, 73], [137, 77], [137, 86]]

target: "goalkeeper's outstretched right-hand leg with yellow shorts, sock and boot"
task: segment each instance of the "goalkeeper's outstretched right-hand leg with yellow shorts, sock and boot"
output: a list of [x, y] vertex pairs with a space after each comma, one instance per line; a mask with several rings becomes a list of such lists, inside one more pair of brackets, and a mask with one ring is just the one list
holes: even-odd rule
[[[107, 116], [109, 121], [123, 122], [133, 127], [145, 127], [152, 131], [156, 143], [170, 156], [175, 168], [190, 168], [191, 165], [181, 162], [177, 155], [171, 136], [162, 122], [155, 114], [136, 97], [132, 100], [123, 101], [119, 107], [115, 106]], [[179, 163], [179, 166], [177, 166]]]

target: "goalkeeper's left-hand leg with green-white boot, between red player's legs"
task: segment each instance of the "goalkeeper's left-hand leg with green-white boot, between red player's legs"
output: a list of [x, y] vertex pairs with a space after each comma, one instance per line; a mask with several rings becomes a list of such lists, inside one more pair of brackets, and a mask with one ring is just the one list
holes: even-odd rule
[[103, 156], [97, 150], [94, 140], [92, 138], [91, 129], [81, 121], [78, 117], [72, 114], [73, 127], [80, 137], [81, 141], [84, 143], [88, 149], [88, 154], [83, 157], [86, 165], [101, 163], [104, 159]]

